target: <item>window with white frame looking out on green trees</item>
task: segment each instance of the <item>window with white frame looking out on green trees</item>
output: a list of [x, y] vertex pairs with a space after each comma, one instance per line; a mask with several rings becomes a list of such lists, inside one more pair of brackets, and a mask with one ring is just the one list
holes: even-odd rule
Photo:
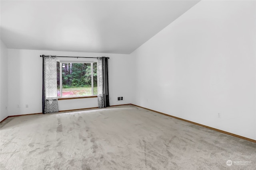
[[97, 63], [57, 62], [58, 97], [97, 95]]

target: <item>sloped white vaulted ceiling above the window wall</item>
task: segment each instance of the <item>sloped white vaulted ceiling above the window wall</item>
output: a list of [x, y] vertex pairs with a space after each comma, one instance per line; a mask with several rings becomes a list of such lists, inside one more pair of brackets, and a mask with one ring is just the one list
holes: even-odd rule
[[199, 0], [0, 1], [8, 48], [130, 54]]

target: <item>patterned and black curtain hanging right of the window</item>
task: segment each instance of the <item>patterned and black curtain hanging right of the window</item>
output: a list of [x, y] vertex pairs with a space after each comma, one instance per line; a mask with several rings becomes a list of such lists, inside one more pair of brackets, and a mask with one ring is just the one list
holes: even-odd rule
[[97, 60], [97, 86], [98, 86], [98, 107], [108, 107], [108, 57], [98, 57]]

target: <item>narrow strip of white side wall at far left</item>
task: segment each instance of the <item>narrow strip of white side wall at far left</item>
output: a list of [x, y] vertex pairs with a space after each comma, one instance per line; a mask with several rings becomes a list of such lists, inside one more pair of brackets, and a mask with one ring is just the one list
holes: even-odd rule
[[[8, 116], [7, 48], [0, 40], [0, 121]], [[7, 108], [6, 108], [7, 107]]]

